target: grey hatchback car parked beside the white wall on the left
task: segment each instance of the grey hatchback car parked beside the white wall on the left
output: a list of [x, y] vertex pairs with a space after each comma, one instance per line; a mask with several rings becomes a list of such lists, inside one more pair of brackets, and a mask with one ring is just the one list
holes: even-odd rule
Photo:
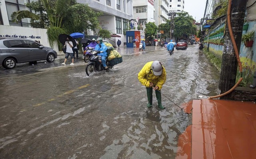
[[0, 37], [0, 63], [6, 69], [13, 69], [16, 63], [46, 60], [53, 62], [57, 53], [36, 41], [24, 38]]

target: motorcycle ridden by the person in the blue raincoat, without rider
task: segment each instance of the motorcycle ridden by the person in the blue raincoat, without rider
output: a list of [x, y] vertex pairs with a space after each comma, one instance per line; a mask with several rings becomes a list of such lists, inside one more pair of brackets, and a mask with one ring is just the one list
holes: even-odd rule
[[[99, 72], [99, 71], [102, 71], [102, 70], [106, 70], [103, 67], [102, 63], [100, 63], [100, 61], [98, 60], [98, 57], [99, 57], [98, 53], [100, 53], [100, 51], [93, 50], [91, 52], [92, 55], [90, 56], [89, 62], [87, 63], [86, 68], [85, 68], [85, 72], [86, 72], [87, 76], [89, 76], [94, 71]], [[106, 65], [107, 65], [108, 69], [113, 68], [113, 66], [109, 65], [108, 58], [106, 58]]]

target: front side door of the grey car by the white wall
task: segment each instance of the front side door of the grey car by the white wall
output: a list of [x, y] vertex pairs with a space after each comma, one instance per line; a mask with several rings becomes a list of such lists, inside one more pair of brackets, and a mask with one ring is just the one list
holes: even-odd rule
[[47, 50], [44, 48], [40, 48], [40, 46], [42, 45], [30, 40], [23, 40], [23, 42], [25, 47], [28, 49], [30, 61], [39, 61], [46, 59]]

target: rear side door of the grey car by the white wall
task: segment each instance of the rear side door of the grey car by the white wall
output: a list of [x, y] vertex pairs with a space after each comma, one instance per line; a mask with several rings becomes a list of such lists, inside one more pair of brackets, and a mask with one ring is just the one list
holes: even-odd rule
[[9, 51], [17, 59], [18, 63], [29, 61], [28, 49], [24, 47], [21, 40], [8, 40]]

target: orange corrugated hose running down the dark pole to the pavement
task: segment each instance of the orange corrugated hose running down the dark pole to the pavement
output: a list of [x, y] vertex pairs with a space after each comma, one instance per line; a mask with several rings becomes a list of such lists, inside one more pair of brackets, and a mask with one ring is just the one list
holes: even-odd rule
[[[234, 35], [233, 35], [233, 31], [232, 31], [232, 27], [231, 27], [231, 20], [230, 20], [231, 4], [232, 4], [232, 0], [228, 0], [228, 11], [227, 11], [228, 31], [229, 31], [229, 35], [230, 35], [230, 38], [231, 38], [231, 41], [232, 41], [232, 44], [233, 44], [233, 47], [234, 47], [234, 51], [236, 53], [236, 60], [238, 62], [238, 66], [239, 66], [239, 72], [242, 73], [242, 63], [240, 61], [240, 57], [239, 57], [239, 53], [238, 53], [238, 48], [236, 46], [236, 41], [235, 41], [235, 38], [234, 38]], [[219, 97], [222, 97], [222, 96], [225, 96], [225, 95], [229, 94], [230, 92], [232, 92], [238, 86], [238, 84], [240, 84], [240, 82], [242, 80], [243, 80], [243, 78], [240, 77], [238, 82], [230, 90], [228, 90], [225, 93], [219, 94], [217, 96], [211, 96], [208, 99], [219, 98]]]

